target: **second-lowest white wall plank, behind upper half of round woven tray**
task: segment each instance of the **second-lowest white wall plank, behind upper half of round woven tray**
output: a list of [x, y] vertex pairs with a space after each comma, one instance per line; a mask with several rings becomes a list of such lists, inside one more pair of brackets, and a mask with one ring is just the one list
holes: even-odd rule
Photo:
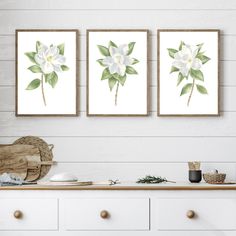
[[[0, 137], [10, 144], [19, 137]], [[236, 137], [42, 137], [58, 162], [235, 162]], [[91, 152], [92, 150], [92, 152]]]

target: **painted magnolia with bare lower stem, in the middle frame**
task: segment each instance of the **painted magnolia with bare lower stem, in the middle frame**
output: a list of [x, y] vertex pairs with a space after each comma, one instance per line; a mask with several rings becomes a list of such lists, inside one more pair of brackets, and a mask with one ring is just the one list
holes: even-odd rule
[[109, 41], [108, 47], [97, 45], [100, 53], [105, 57], [97, 60], [99, 65], [104, 67], [101, 80], [108, 80], [108, 86], [111, 92], [116, 85], [115, 106], [118, 104], [120, 84], [122, 86], [125, 85], [128, 75], [138, 74], [133, 65], [139, 63], [139, 61], [130, 56], [134, 50], [134, 46], [135, 42], [117, 46], [112, 41]]

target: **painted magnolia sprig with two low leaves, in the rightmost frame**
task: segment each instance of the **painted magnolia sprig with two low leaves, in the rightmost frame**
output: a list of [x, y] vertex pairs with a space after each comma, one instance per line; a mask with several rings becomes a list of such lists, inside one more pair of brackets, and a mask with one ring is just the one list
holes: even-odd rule
[[167, 49], [169, 56], [174, 59], [170, 73], [178, 73], [177, 86], [184, 80], [188, 82], [180, 92], [180, 96], [189, 94], [187, 106], [190, 105], [195, 88], [200, 94], [208, 94], [207, 89], [201, 84], [204, 82], [204, 74], [200, 69], [211, 59], [205, 55], [202, 47], [203, 43], [195, 46], [181, 41], [178, 50], [174, 48]]

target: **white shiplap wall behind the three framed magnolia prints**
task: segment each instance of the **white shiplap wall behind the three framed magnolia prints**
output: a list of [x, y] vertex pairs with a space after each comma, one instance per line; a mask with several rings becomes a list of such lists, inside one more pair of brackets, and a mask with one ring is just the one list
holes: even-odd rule
[[[80, 179], [135, 180], [145, 174], [185, 181], [188, 160], [236, 179], [235, 0], [1, 0], [0, 143], [24, 135], [55, 145], [59, 171]], [[15, 117], [15, 29], [80, 30], [80, 116]], [[146, 118], [86, 117], [86, 29], [150, 30], [151, 110]], [[157, 117], [157, 29], [221, 30], [221, 116]], [[49, 175], [49, 176], [50, 176]]]

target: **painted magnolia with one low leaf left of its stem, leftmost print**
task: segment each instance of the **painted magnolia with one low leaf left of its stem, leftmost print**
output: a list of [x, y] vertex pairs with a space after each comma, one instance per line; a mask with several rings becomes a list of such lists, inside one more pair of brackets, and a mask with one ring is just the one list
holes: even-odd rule
[[25, 55], [33, 63], [28, 70], [35, 74], [41, 74], [41, 78], [32, 80], [26, 90], [34, 90], [41, 86], [43, 103], [44, 106], [47, 106], [44, 85], [48, 83], [52, 88], [55, 88], [58, 82], [57, 73], [69, 70], [69, 67], [65, 65], [65, 45], [54, 46], [51, 44], [48, 47], [37, 41], [35, 48], [36, 51], [26, 52]]

